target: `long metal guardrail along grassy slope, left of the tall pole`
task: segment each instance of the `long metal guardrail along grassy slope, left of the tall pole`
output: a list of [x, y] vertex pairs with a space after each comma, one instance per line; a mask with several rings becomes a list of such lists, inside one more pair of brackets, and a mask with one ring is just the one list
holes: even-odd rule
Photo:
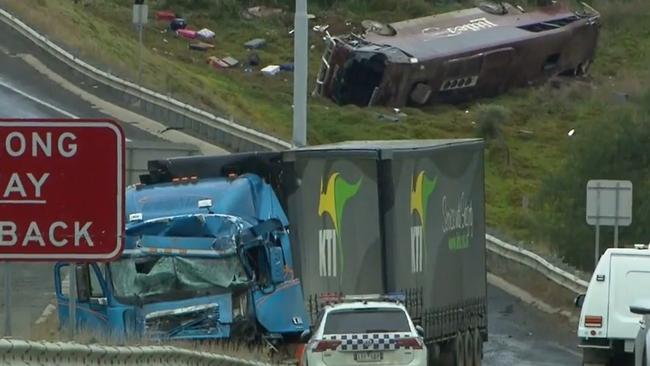
[[[20, 19], [9, 12], [0, 9], [0, 21], [7, 23], [13, 29], [21, 33], [27, 39], [34, 42], [41, 49], [75, 70], [77, 73], [95, 82], [103, 84], [114, 92], [120, 92], [123, 99], [133, 99], [144, 102], [145, 111], [152, 109], [163, 109], [166, 113], [161, 119], [167, 121], [180, 121], [185, 131], [204, 139], [207, 142], [215, 143], [226, 147], [230, 151], [252, 151], [252, 150], [282, 150], [291, 148], [289, 142], [279, 138], [266, 135], [262, 132], [242, 126], [232, 120], [215, 116], [199, 108], [185, 104], [177, 99], [156, 93], [150, 89], [143, 88], [132, 82], [123, 80], [108, 72], [102, 71], [83, 60], [75, 57], [70, 52], [59, 47], [47, 37], [39, 34], [34, 29], [23, 23]], [[153, 108], [152, 108], [153, 107]], [[151, 112], [151, 114], [155, 114]], [[174, 116], [171, 116], [171, 115]], [[178, 126], [173, 126], [178, 127]]]

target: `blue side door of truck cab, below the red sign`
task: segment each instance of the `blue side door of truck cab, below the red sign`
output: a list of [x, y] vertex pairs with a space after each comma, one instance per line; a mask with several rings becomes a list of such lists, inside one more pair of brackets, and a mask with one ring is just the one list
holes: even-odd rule
[[103, 272], [96, 264], [57, 264], [55, 289], [60, 326], [69, 320], [69, 271], [77, 271], [77, 329], [105, 333], [108, 329], [108, 301]]

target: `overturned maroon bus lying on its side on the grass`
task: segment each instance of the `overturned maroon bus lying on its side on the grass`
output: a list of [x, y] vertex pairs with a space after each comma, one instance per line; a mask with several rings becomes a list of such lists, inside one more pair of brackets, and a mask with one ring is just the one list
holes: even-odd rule
[[600, 14], [549, 2], [507, 3], [392, 24], [364, 21], [363, 35], [326, 37], [315, 95], [358, 106], [421, 106], [494, 96], [594, 60]]

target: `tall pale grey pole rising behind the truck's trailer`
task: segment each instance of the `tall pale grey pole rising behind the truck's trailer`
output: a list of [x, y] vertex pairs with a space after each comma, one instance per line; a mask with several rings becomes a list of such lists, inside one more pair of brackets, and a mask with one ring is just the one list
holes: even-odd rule
[[307, 0], [296, 0], [293, 38], [293, 145], [307, 145], [308, 39]]

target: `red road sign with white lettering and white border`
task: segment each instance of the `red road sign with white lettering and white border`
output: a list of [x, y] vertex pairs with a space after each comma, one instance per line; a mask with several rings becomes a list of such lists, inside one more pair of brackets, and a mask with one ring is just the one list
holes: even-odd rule
[[118, 124], [0, 119], [0, 260], [111, 260], [123, 231]]

